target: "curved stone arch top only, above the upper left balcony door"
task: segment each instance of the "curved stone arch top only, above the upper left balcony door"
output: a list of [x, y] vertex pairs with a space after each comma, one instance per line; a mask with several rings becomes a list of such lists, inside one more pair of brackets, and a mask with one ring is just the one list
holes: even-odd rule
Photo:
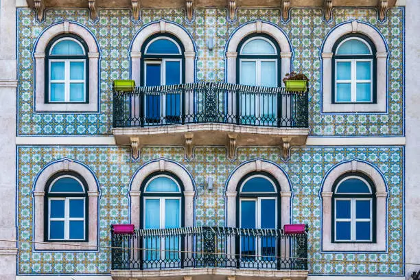
[[191, 36], [189, 36], [189, 34], [185, 30], [183, 30], [183, 28], [174, 23], [162, 20], [147, 25], [142, 30], [140, 30], [139, 33], [137, 33], [134, 40], [132, 40], [132, 45], [130, 49], [131, 53], [140, 53], [141, 46], [147, 38], [149, 38], [153, 34], [165, 32], [176, 36], [181, 41], [181, 43], [183, 43], [186, 53], [195, 52], [194, 42], [191, 39]]

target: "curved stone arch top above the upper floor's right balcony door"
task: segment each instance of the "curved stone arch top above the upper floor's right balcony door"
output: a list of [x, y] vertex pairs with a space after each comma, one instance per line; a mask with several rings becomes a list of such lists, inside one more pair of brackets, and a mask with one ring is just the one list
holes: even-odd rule
[[290, 54], [292, 52], [287, 36], [285, 36], [279, 27], [270, 23], [255, 21], [253, 23], [246, 23], [235, 31], [229, 39], [226, 49], [227, 53], [236, 52], [237, 46], [240, 44], [241, 40], [253, 33], [264, 33], [272, 36], [279, 44], [281, 54]]

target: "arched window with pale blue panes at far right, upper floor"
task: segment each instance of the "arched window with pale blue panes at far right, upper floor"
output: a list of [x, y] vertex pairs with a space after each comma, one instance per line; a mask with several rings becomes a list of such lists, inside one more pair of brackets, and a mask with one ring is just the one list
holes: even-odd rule
[[333, 47], [335, 103], [376, 102], [376, 49], [361, 34], [346, 35]]

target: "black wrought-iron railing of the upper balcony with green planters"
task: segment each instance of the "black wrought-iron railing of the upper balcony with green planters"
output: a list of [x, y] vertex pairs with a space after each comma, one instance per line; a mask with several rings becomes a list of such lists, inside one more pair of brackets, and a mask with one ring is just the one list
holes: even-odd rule
[[225, 83], [114, 91], [114, 127], [222, 123], [307, 128], [307, 92]]

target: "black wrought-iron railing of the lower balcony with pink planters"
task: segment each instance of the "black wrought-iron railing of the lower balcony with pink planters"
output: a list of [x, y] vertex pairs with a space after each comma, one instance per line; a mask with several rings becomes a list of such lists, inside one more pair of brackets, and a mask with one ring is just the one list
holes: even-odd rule
[[307, 270], [307, 231], [193, 227], [111, 231], [112, 269], [253, 268]]

